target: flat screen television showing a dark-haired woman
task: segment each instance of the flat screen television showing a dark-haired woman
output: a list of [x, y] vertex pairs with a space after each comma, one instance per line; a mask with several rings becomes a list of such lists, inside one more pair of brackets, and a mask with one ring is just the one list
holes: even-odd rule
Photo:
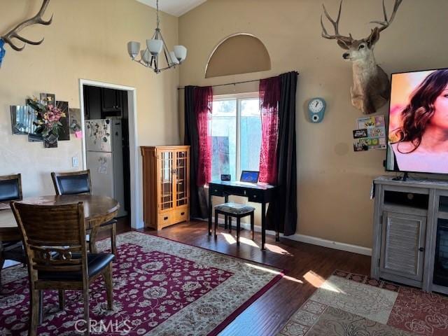
[[392, 74], [386, 170], [448, 174], [448, 69]]

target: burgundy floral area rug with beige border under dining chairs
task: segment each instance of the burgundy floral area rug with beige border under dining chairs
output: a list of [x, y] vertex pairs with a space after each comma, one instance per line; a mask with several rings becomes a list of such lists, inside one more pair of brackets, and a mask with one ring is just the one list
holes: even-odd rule
[[[107, 239], [98, 243], [99, 251], [109, 246]], [[128, 232], [118, 236], [113, 311], [106, 310], [104, 281], [90, 286], [91, 335], [217, 335], [281, 276], [281, 269]], [[2, 277], [0, 335], [27, 335], [27, 270], [11, 267]], [[81, 292], [66, 290], [64, 311], [57, 291], [46, 290], [43, 302], [38, 335], [80, 335]]]

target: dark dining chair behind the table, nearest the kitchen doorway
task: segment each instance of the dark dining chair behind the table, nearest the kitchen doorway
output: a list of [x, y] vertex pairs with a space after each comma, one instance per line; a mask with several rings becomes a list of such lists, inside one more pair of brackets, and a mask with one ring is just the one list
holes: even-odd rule
[[[56, 195], [92, 195], [89, 169], [69, 173], [52, 172], [51, 178], [55, 186]], [[100, 231], [109, 231], [111, 233], [111, 251], [114, 255], [117, 255], [116, 224], [117, 221], [113, 219], [99, 225]], [[92, 246], [90, 246], [90, 251], [94, 251]]]

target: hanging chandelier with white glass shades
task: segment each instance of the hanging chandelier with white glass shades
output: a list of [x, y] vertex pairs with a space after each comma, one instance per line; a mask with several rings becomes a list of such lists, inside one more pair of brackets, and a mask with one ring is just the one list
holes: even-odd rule
[[[187, 57], [187, 48], [183, 45], [174, 45], [173, 51], [169, 51], [167, 44], [165, 43], [162, 33], [160, 32], [160, 20], [159, 20], [159, 0], [157, 4], [157, 28], [151, 40], [146, 40], [146, 49], [140, 50], [140, 43], [130, 41], [127, 43], [127, 52], [133, 61], [139, 64], [151, 68], [155, 73], [160, 73], [162, 70], [175, 68], [176, 65], [181, 64]], [[165, 55], [167, 66], [160, 68], [159, 56], [162, 53]], [[140, 59], [137, 56], [140, 54]]]

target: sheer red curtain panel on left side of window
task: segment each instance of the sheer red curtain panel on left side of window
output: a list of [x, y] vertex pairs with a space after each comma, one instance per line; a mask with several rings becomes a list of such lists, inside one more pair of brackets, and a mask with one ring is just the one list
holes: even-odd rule
[[197, 165], [197, 186], [204, 186], [211, 180], [211, 86], [195, 87], [195, 113], [199, 136], [199, 158]]

